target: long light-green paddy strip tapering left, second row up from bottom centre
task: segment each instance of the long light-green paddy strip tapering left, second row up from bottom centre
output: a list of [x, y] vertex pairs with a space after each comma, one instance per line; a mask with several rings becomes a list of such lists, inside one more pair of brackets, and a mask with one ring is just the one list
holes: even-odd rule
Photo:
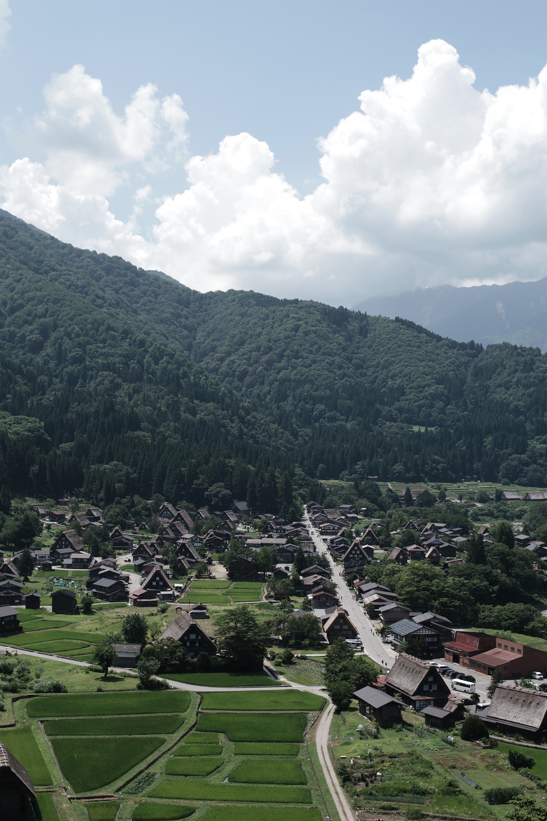
[[[184, 798], [202, 801], [258, 801], [264, 804], [311, 804], [307, 787], [244, 787], [243, 784], [209, 784], [194, 778], [164, 781], [152, 792], [152, 798]], [[255, 816], [256, 817], [256, 816]]]

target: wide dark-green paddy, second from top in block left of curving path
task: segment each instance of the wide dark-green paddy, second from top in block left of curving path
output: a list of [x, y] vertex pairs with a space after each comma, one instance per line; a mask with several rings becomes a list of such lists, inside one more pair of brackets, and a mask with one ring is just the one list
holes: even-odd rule
[[201, 713], [198, 731], [226, 732], [230, 741], [303, 741], [305, 713]]

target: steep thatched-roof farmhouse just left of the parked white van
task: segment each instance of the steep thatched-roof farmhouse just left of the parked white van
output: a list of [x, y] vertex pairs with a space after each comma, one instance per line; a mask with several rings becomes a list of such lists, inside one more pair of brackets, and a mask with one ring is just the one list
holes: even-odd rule
[[389, 695], [399, 693], [403, 704], [420, 712], [426, 707], [443, 707], [449, 699], [449, 686], [432, 664], [400, 653], [385, 677]]

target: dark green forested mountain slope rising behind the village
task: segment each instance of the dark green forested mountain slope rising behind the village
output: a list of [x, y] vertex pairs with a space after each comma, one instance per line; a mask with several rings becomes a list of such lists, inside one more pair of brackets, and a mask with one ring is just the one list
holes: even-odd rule
[[[483, 351], [252, 291], [201, 294], [6, 212], [0, 253], [0, 484], [12, 490], [28, 490], [34, 462], [45, 495], [97, 488], [109, 470], [117, 482], [126, 467], [133, 492], [196, 504], [212, 484], [244, 496], [249, 466], [299, 465], [300, 480], [357, 465], [385, 479], [545, 482], [538, 349]], [[43, 434], [29, 421], [16, 436], [6, 414]]]

